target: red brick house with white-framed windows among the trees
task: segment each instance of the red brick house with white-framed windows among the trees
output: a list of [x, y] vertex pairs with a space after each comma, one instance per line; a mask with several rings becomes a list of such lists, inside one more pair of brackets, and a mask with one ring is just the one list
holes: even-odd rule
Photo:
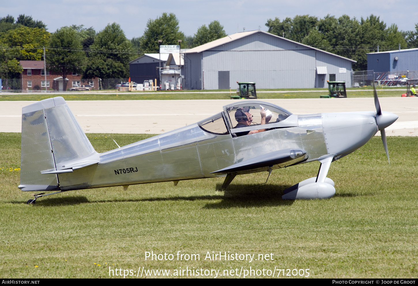
[[[59, 72], [50, 72], [46, 69], [45, 84], [43, 61], [20, 61], [20, 66], [23, 68], [23, 73], [20, 76], [22, 90], [42, 90], [46, 85], [48, 89], [63, 91], [64, 81]], [[93, 89], [99, 88], [98, 78], [82, 79], [77, 73], [67, 75], [66, 81], [67, 89], [81, 84], [90, 85]]]

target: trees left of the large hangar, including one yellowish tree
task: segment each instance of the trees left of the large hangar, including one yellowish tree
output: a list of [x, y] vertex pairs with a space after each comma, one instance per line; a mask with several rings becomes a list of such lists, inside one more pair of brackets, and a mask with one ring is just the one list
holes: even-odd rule
[[19, 61], [43, 60], [43, 47], [48, 70], [63, 78], [73, 72], [83, 78], [127, 78], [128, 63], [144, 53], [158, 53], [158, 40], [161, 45], [177, 45], [181, 40], [182, 48], [190, 48], [224, 36], [223, 26], [213, 21], [208, 27], [202, 25], [193, 37], [186, 37], [173, 13], [148, 20], [143, 36], [132, 40], [117, 23], [99, 32], [71, 25], [49, 33], [42, 21], [31, 16], [19, 15], [15, 20], [7, 15], [0, 18], [0, 78], [19, 78], [23, 71]]

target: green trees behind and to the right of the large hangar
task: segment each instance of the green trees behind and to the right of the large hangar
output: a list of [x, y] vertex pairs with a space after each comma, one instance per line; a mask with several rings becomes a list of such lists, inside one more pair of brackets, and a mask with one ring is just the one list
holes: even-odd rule
[[400, 31], [396, 24], [387, 27], [380, 17], [339, 18], [326, 15], [322, 19], [310, 15], [296, 15], [293, 19], [269, 19], [268, 32], [314, 48], [351, 58], [354, 71], [367, 69], [367, 53], [400, 48], [418, 48], [418, 25], [414, 31]]

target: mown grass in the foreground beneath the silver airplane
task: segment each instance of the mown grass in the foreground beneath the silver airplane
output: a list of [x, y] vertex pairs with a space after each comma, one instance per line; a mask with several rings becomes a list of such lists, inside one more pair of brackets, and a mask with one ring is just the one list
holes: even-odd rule
[[[149, 136], [112, 134], [121, 145]], [[114, 148], [108, 135], [88, 137], [98, 152]], [[245, 188], [267, 173], [237, 176], [225, 192], [214, 178], [71, 191], [26, 205], [31, 193], [17, 188], [20, 134], [0, 133], [0, 277], [108, 278], [110, 266], [132, 269], [126, 278], [139, 267], [169, 269], [169, 277], [187, 267], [217, 269], [218, 277], [251, 267], [264, 278], [262, 269], [275, 268], [310, 269], [309, 278], [416, 278], [418, 137], [387, 140], [391, 167], [380, 137], [331, 164], [336, 195], [329, 200], [281, 199], [283, 189], [316, 175], [319, 164], [311, 162], [275, 170], [252, 190]], [[146, 251], [173, 260], [145, 260]], [[200, 260], [177, 260], [178, 251]], [[212, 251], [269, 256], [205, 260]], [[280, 277], [303, 277], [286, 274]]]

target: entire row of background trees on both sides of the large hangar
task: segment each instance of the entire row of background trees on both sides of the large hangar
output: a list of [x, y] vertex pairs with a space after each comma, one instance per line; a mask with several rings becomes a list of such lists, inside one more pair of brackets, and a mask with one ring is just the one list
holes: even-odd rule
[[[296, 15], [293, 19], [268, 19], [265, 25], [274, 35], [357, 61], [354, 70], [367, 69], [366, 54], [377, 51], [377, 46], [379, 51], [394, 50], [399, 45], [418, 47], [418, 24], [415, 30], [401, 31], [395, 24], [387, 26], [375, 15], [360, 20], [348, 15]], [[199, 27], [193, 36], [186, 36], [179, 30], [173, 13], [149, 19], [143, 35], [131, 40], [117, 23], [109, 23], [99, 32], [93, 27], [71, 25], [50, 33], [41, 20], [7, 15], [0, 18], [0, 78], [19, 78], [19, 61], [42, 60], [43, 47], [48, 69], [59, 71], [63, 78], [71, 72], [80, 73], [83, 78], [127, 78], [128, 63], [144, 53], [158, 53], [158, 40], [161, 45], [180, 43], [181, 48], [193, 48], [226, 35], [224, 27], [215, 20]]]

